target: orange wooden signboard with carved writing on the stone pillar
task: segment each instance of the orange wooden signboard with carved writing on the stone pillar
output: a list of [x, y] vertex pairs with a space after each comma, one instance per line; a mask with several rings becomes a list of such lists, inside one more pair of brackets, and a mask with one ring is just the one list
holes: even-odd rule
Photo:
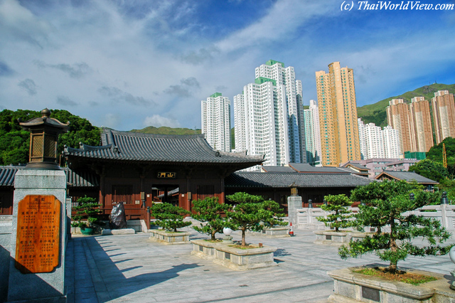
[[55, 196], [28, 195], [18, 203], [16, 268], [52, 272], [60, 261], [60, 207]]

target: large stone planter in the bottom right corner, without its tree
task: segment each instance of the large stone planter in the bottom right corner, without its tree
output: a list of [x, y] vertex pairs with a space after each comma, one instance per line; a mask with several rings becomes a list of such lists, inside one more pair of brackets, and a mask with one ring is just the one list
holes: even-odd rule
[[[367, 267], [384, 266], [378, 264]], [[411, 285], [404, 282], [385, 280], [380, 277], [362, 275], [353, 270], [360, 267], [350, 267], [333, 270], [327, 274], [333, 278], [334, 294], [328, 297], [328, 302], [382, 302], [382, 303], [442, 303], [455, 302], [455, 292], [451, 291], [444, 275], [422, 270], [406, 271], [429, 275], [439, 280]]]

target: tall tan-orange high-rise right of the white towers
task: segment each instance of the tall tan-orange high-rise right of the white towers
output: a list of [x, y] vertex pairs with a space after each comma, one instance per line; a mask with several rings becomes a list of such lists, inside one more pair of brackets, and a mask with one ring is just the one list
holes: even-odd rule
[[338, 166], [360, 160], [357, 103], [354, 72], [341, 68], [339, 62], [328, 65], [328, 73], [316, 72], [319, 125], [321, 131], [321, 163]]

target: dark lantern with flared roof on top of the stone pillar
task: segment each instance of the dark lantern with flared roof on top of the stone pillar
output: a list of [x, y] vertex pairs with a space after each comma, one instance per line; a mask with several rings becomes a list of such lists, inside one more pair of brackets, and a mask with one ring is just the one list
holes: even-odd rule
[[50, 117], [50, 110], [41, 110], [42, 117], [26, 122], [18, 119], [22, 129], [30, 134], [30, 157], [26, 169], [58, 170], [57, 163], [58, 135], [68, 132], [70, 122], [62, 123]]

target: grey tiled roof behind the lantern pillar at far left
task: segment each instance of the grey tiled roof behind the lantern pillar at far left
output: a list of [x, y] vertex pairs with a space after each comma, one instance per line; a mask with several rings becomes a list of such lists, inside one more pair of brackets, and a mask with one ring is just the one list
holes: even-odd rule
[[[14, 177], [19, 169], [25, 166], [0, 166], [0, 186], [14, 186]], [[75, 172], [68, 168], [63, 168], [66, 174], [68, 187], [94, 187], [99, 186], [100, 181], [94, 174], [88, 172]]]

